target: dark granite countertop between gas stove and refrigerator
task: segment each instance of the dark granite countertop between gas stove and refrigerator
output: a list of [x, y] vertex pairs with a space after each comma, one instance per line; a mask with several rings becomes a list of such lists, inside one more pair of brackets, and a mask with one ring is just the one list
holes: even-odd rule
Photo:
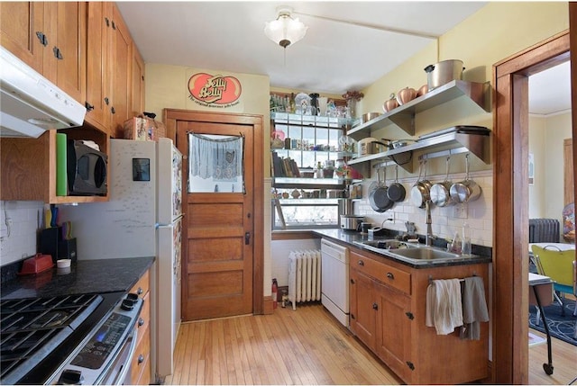
[[55, 266], [41, 274], [9, 278], [3, 275], [1, 299], [128, 292], [151, 267], [154, 259], [154, 257], [130, 257], [78, 260], [70, 266], [69, 274], [60, 274]]

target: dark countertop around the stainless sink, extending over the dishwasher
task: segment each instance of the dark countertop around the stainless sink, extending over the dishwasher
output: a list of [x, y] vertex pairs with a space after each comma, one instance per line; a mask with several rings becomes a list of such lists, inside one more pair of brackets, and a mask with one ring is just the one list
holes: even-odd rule
[[[313, 232], [315, 232], [317, 235], [323, 237], [323, 238], [329, 238], [332, 241], [335, 241], [341, 245], [343, 245], [344, 247], [356, 247], [359, 249], [364, 249], [362, 246], [355, 244], [355, 241], [367, 241], [369, 239], [368, 235], [364, 235], [362, 233], [356, 232], [354, 230], [343, 230], [343, 229], [315, 229], [312, 230]], [[381, 236], [378, 238], [373, 238], [375, 240], [377, 239], [390, 239], [390, 238], [394, 238], [394, 236]], [[483, 248], [483, 247], [479, 247], [477, 248], [478, 251], [485, 251], [489, 248]], [[376, 256], [380, 256], [395, 262], [398, 262], [400, 264], [403, 265], [408, 265], [410, 267], [413, 268], [436, 268], [436, 267], [440, 267], [440, 266], [449, 266], [449, 265], [472, 265], [472, 264], [489, 264], [491, 262], [491, 256], [487, 256], [487, 255], [475, 255], [475, 256], [463, 256], [463, 258], [457, 259], [457, 260], [452, 260], [452, 261], [433, 261], [433, 262], [427, 262], [427, 263], [419, 263], [419, 264], [414, 264], [411, 262], [408, 262], [406, 260], [401, 260], [398, 258], [395, 258], [393, 256], [387, 256], [385, 254], [380, 254], [374, 251], [371, 251], [369, 249], [365, 249], [368, 252], [371, 252], [372, 254], [376, 255]], [[473, 253], [475, 253], [476, 251], [473, 250]]]

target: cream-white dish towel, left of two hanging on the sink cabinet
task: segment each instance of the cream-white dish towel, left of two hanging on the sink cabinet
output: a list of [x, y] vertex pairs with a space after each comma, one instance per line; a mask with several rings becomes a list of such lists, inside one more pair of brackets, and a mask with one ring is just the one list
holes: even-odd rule
[[463, 305], [459, 279], [434, 280], [426, 289], [426, 326], [437, 335], [448, 335], [463, 326]]

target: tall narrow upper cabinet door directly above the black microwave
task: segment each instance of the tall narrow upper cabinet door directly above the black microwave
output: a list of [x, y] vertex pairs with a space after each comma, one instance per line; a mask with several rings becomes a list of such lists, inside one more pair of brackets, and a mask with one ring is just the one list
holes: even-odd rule
[[109, 54], [112, 38], [112, 4], [87, 3], [87, 116], [92, 126], [109, 133]]

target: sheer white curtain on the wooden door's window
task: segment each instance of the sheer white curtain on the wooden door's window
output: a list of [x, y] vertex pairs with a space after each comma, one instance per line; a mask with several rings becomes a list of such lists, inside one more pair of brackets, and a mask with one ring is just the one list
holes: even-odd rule
[[190, 175], [216, 182], [235, 182], [243, 177], [242, 136], [215, 139], [189, 133], [188, 144]]

